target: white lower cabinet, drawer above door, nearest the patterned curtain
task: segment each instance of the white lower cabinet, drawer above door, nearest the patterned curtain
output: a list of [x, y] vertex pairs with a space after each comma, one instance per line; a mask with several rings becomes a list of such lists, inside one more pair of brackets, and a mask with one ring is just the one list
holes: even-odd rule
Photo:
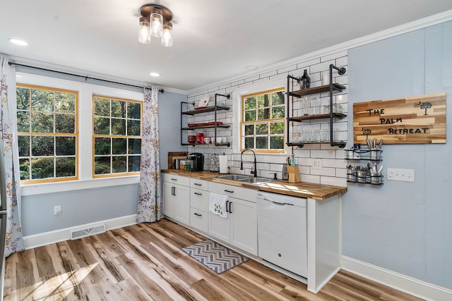
[[163, 214], [169, 219], [190, 224], [189, 178], [163, 174]]

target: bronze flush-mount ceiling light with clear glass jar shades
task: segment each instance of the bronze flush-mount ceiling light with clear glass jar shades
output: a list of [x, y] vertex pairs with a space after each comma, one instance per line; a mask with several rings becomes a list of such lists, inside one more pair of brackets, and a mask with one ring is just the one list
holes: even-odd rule
[[161, 37], [161, 44], [172, 47], [172, 12], [160, 4], [145, 4], [140, 8], [138, 41], [150, 44], [150, 37]]

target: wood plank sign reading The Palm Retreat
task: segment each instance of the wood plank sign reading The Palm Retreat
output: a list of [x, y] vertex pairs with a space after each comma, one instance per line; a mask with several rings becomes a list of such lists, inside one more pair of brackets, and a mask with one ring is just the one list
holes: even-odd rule
[[353, 141], [446, 143], [446, 93], [353, 104]]

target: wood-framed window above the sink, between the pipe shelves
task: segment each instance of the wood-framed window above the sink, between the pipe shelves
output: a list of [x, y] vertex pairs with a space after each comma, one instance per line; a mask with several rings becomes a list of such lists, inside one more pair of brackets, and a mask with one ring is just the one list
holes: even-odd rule
[[242, 149], [284, 152], [284, 88], [242, 96]]

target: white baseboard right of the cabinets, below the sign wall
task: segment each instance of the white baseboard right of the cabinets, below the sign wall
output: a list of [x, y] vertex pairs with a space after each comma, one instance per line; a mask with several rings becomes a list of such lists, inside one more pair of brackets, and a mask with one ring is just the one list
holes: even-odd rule
[[397, 290], [425, 300], [452, 300], [452, 290], [441, 288], [441, 286], [405, 276], [395, 271], [383, 269], [367, 262], [342, 256], [340, 266], [345, 271], [350, 271], [353, 274], [369, 278], [372, 281], [396, 288]]

